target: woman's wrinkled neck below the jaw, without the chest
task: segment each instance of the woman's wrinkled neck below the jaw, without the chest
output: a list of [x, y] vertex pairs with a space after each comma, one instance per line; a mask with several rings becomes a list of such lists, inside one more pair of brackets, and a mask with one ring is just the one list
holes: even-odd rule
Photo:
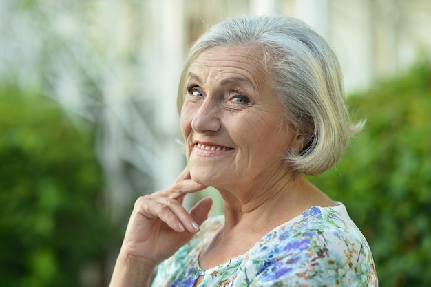
[[220, 190], [224, 199], [224, 233], [255, 231], [264, 235], [311, 206], [335, 205], [317, 187], [297, 174], [266, 186], [266, 189], [256, 186], [248, 193]]

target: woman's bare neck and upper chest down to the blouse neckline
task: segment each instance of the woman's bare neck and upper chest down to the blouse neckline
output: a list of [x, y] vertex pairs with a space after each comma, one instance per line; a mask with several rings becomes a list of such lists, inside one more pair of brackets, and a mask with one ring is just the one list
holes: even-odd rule
[[266, 180], [248, 190], [218, 190], [224, 200], [224, 226], [200, 254], [200, 266], [204, 269], [246, 253], [275, 227], [311, 206], [335, 205], [317, 187], [295, 173], [279, 180]]

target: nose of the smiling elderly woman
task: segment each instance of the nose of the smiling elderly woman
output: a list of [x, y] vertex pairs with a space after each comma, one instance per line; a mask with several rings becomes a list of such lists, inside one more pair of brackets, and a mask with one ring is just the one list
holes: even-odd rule
[[191, 120], [191, 128], [200, 134], [220, 131], [220, 106], [216, 100], [206, 98]]

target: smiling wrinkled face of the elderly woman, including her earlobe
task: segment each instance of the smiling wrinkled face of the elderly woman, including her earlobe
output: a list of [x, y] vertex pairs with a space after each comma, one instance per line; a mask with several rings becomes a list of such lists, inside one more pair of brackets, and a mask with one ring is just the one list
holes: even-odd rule
[[187, 74], [181, 131], [191, 178], [216, 188], [259, 184], [286, 173], [282, 160], [302, 149], [286, 124], [256, 47], [204, 50]]

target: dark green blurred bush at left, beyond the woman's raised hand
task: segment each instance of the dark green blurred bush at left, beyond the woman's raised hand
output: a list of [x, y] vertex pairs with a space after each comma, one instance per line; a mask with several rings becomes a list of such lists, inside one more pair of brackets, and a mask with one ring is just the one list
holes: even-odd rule
[[93, 132], [14, 85], [0, 103], [0, 286], [83, 286], [112, 232]]

